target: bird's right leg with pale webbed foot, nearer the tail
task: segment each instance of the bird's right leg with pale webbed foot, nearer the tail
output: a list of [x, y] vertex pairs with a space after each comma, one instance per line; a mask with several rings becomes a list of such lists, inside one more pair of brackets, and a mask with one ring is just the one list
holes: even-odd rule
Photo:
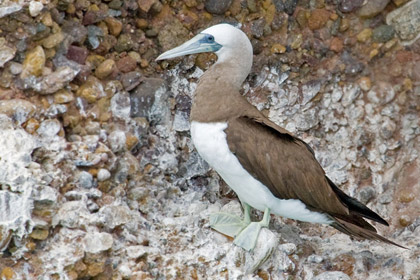
[[257, 244], [258, 235], [263, 227], [268, 227], [270, 223], [270, 209], [265, 208], [264, 217], [259, 222], [250, 223], [239, 235], [233, 240], [233, 243], [247, 251], [254, 249]]

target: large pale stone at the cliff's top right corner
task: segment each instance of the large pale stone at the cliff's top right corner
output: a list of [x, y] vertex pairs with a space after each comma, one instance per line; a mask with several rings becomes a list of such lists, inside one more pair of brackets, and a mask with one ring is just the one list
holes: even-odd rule
[[401, 40], [413, 43], [420, 36], [420, 0], [413, 0], [393, 10], [386, 16], [386, 23], [395, 28]]

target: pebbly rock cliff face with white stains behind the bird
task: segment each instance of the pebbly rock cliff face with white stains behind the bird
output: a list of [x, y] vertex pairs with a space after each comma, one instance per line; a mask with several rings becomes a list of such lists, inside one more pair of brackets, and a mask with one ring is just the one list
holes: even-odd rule
[[[419, 278], [419, 9], [1, 2], [0, 278]], [[219, 22], [252, 41], [248, 100], [307, 141], [334, 182], [390, 222], [380, 233], [410, 250], [273, 217], [250, 254], [209, 228], [210, 213], [241, 212], [189, 137], [194, 88], [215, 57], [154, 59]]]

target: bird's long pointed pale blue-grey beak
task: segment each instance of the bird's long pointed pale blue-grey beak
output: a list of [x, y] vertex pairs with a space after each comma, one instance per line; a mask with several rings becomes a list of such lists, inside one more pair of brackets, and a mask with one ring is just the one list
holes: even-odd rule
[[187, 54], [216, 52], [221, 47], [222, 45], [216, 42], [209, 43], [206, 40], [205, 34], [198, 34], [197, 36], [185, 42], [184, 44], [159, 55], [158, 58], [156, 58], [156, 60], [169, 59], [169, 58], [174, 58], [174, 57], [183, 56]]

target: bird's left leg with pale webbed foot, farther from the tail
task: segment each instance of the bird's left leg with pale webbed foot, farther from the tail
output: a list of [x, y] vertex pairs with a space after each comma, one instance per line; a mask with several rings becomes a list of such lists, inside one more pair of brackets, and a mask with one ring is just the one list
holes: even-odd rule
[[245, 202], [242, 203], [244, 207], [244, 219], [236, 215], [219, 212], [210, 215], [210, 227], [217, 230], [224, 235], [236, 237], [249, 223], [251, 223], [250, 210], [251, 207]]

